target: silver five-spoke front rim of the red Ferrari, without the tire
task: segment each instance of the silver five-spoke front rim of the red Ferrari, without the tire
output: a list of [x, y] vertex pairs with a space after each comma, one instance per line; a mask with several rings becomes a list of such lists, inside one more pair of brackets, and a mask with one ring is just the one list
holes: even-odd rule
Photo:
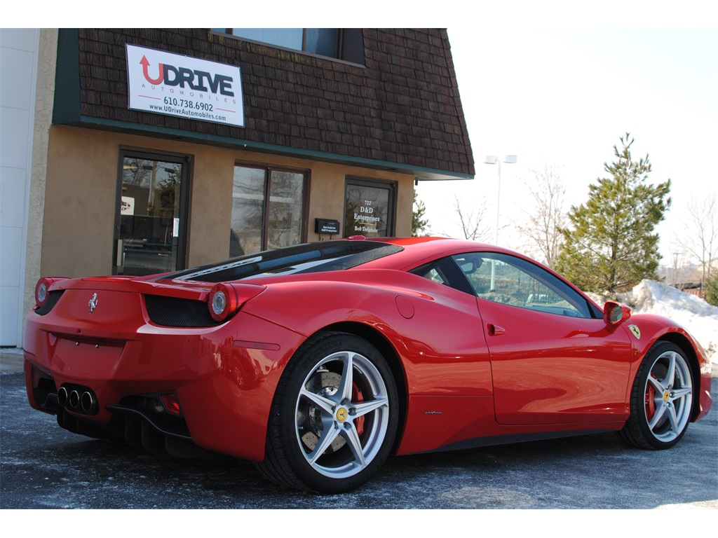
[[691, 417], [691, 369], [676, 351], [666, 351], [651, 365], [643, 390], [645, 420], [657, 440], [670, 443], [686, 428]]

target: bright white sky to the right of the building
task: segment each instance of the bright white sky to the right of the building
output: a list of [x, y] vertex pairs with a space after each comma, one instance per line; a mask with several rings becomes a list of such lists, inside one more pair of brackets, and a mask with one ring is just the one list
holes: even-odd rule
[[[715, 22], [715, 15], [706, 16]], [[609, 175], [604, 163], [614, 160], [613, 146], [629, 131], [633, 158], [649, 154], [649, 181], [672, 181], [673, 204], [658, 229], [662, 263], [668, 264], [679, 250], [675, 237], [685, 227], [691, 197], [718, 188], [712, 159], [718, 149], [718, 29], [508, 23], [448, 27], [476, 179], [419, 184], [432, 231], [460, 235], [454, 192], [467, 207], [472, 198], [487, 199], [487, 216], [495, 222], [497, 167], [483, 164], [484, 157], [516, 154], [517, 164], [502, 166], [499, 242], [518, 249], [503, 226], [531, 209], [522, 182], [533, 179], [529, 170], [559, 167], [566, 209], [582, 204], [589, 184]]]

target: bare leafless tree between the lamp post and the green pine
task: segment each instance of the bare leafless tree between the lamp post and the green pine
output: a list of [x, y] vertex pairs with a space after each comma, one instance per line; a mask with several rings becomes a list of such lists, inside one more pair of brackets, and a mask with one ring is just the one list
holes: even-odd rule
[[516, 229], [528, 240], [530, 250], [537, 252], [549, 267], [553, 267], [559, 255], [561, 228], [567, 224], [564, 212], [566, 187], [556, 166], [544, 166], [541, 170], [530, 170], [534, 176], [532, 184], [526, 182], [531, 193], [533, 206], [526, 211], [526, 224]]

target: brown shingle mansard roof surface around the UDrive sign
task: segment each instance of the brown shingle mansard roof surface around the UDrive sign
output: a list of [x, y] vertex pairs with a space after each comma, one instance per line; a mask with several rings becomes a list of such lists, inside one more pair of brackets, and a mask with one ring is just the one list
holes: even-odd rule
[[[82, 119], [75, 123], [96, 118], [366, 166], [396, 164], [426, 179], [475, 173], [445, 29], [363, 29], [365, 65], [208, 29], [77, 32]], [[239, 65], [245, 126], [129, 110], [125, 44]]]

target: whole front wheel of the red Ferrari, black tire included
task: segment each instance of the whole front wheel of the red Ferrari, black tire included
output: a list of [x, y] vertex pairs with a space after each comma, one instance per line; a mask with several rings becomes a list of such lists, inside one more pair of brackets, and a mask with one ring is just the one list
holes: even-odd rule
[[636, 372], [630, 417], [619, 435], [638, 448], [671, 448], [686, 433], [692, 405], [693, 378], [686, 354], [676, 344], [656, 342]]

